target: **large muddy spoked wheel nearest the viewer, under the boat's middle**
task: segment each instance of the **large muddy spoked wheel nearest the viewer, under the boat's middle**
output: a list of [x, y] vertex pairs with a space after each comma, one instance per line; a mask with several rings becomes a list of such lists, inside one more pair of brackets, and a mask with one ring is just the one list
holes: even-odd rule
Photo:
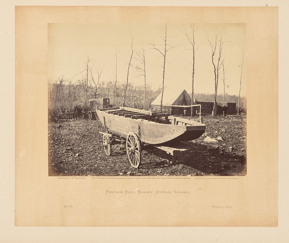
[[132, 167], [138, 168], [142, 160], [140, 140], [138, 135], [130, 132], [126, 141], [127, 157]]

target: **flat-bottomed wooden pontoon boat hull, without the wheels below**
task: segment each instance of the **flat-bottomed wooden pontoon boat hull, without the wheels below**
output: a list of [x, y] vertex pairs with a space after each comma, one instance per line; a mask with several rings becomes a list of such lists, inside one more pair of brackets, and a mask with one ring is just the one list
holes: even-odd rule
[[[102, 125], [109, 132], [126, 138], [130, 132], [140, 135], [140, 140], [148, 144], [160, 144], [168, 141], [190, 141], [199, 138], [206, 129], [205, 124], [176, 118], [177, 125], [156, 123], [152, 120], [131, 119], [124, 116], [108, 114], [97, 110]], [[140, 110], [141, 112], [141, 110]], [[175, 118], [175, 117], [173, 117]], [[170, 117], [170, 119], [173, 119]], [[190, 123], [190, 125], [180, 125]]]

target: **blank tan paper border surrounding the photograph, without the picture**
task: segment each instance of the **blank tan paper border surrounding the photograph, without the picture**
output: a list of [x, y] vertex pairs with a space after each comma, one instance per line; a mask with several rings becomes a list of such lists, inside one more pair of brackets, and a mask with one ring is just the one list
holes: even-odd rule
[[[15, 11], [16, 226], [278, 225], [278, 8], [21, 6]], [[47, 23], [74, 22], [246, 23], [247, 175], [228, 180], [48, 177]], [[191, 194], [105, 196], [106, 189], [136, 187]], [[73, 209], [64, 210], [64, 204]], [[212, 205], [233, 209], [220, 212]]]

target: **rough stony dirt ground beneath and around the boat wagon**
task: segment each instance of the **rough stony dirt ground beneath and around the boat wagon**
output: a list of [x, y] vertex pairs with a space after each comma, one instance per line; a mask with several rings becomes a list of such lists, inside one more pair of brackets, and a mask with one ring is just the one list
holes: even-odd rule
[[[49, 123], [49, 176], [244, 176], [246, 116], [204, 116], [203, 123], [207, 125], [203, 136], [186, 142], [199, 151], [170, 163], [164, 151], [144, 145], [138, 169], [131, 167], [125, 144], [112, 146], [112, 154], [105, 155], [99, 134], [105, 130], [98, 120]], [[223, 141], [204, 142], [207, 136]]]

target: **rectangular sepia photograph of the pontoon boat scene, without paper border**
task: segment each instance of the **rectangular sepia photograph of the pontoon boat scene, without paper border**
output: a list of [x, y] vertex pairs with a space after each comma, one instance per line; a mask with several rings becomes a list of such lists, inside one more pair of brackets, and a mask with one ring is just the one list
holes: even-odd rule
[[49, 23], [49, 176], [245, 176], [245, 23]]

